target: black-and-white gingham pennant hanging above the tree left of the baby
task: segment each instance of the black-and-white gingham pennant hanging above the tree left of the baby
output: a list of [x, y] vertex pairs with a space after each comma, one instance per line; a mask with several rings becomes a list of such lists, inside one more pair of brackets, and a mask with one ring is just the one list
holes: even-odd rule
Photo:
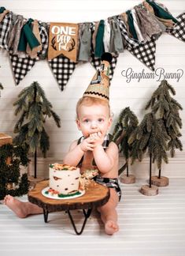
[[20, 58], [17, 55], [13, 55], [12, 51], [9, 51], [9, 58], [12, 63], [16, 84], [19, 85], [20, 81], [23, 80], [28, 71], [35, 65], [36, 60], [35, 58], [30, 57]]

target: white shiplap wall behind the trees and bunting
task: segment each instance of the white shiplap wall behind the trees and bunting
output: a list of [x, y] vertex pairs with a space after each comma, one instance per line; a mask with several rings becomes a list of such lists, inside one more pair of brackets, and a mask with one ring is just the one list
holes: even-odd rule
[[[46, 0], [4, 0], [1, 1], [1, 6], [6, 9], [12, 10], [14, 13], [22, 14], [24, 17], [32, 17], [41, 21], [61, 21], [61, 22], [81, 22], [81, 21], [97, 21], [114, 14], [121, 13], [127, 9], [139, 4], [141, 1], [126, 1], [126, 0], [94, 0], [94, 1], [46, 1]], [[165, 6], [176, 17], [185, 9], [185, 2], [183, 0], [162, 1]], [[157, 40], [156, 52], [156, 68], [162, 67], [165, 73], [176, 72], [177, 69], [185, 71], [185, 44], [176, 40], [167, 34], [162, 35]], [[65, 152], [68, 150], [70, 141], [80, 136], [76, 128], [75, 120], [75, 106], [77, 100], [82, 96], [83, 91], [91, 81], [94, 75], [94, 69], [87, 63], [78, 65], [75, 72], [72, 74], [71, 79], [65, 91], [61, 92], [58, 88], [54, 75], [50, 71], [50, 67], [46, 61], [40, 61], [35, 64], [32, 70], [20, 82], [20, 85], [15, 86], [13, 81], [13, 73], [9, 64], [9, 56], [6, 51], [0, 50], [0, 81], [5, 89], [2, 91], [2, 98], [0, 100], [0, 130], [13, 135], [13, 126], [17, 121], [17, 117], [13, 112], [13, 101], [17, 100], [18, 93], [32, 81], [39, 81], [43, 86], [47, 98], [54, 106], [54, 111], [61, 117], [61, 129], [54, 126], [52, 120], [47, 120], [46, 130], [50, 136], [50, 150], [48, 152], [49, 158], [43, 160], [39, 159], [39, 171], [43, 172], [47, 168], [50, 161], [61, 160]], [[131, 67], [135, 72], [150, 72], [139, 60], [133, 57], [128, 51], [124, 51], [120, 55], [117, 62], [117, 69], [115, 70], [112, 85], [110, 88], [111, 106], [114, 113], [114, 122], [120, 110], [124, 107], [131, 107], [132, 111], [142, 119], [143, 107], [147, 100], [150, 98], [152, 92], [160, 84], [157, 78], [141, 80], [131, 80], [130, 83], [126, 82], [125, 77], [121, 76], [122, 70], [127, 70]], [[176, 100], [185, 108], [185, 74], [177, 82], [175, 79], [168, 79], [168, 81], [176, 89]], [[180, 113], [183, 124], [185, 123], [184, 111]], [[183, 146], [185, 146], [185, 128], [182, 129]], [[165, 171], [168, 176], [185, 176], [183, 169], [185, 168], [185, 152], [176, 152], [176, 158], [169, 160], [170, 164], [165, 165]], [[135, 164], [132, 168], [138, 176], [147, 175], [148, 159], [144, 159], [142, 164]], [[143, 169], [146, 170], [143, 172]], [[154, 167], [155, 169], [155, 167]], [[176, 172], [174, 172], [174, 169]], [[139, 170], [142, 170], [140, 172]]]

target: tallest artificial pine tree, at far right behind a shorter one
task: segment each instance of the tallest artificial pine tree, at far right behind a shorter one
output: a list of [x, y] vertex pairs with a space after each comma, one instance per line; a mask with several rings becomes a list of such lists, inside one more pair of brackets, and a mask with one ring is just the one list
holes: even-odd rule
[[[151, 96], [151, 99], [146, 104], [146, 109], [151, 108], [157, 118], [164, 122], [164, 129], [168, 134], [168, 150], [173, 157], [175, 150], [183, 150], [183, 145], [179, 140], [182, 136], [179, 129], [182, 128], [182, 120], [179, 117], [179, 110], [183, 110], [183, 107], [172, 98], [170, 95], [176, 95], [175, 89], [172, 85], [168, 84], [168, 81], [161, 81], [161, 85]], [[161, 165], [158, 165], [159, 175], [161, 178]]]

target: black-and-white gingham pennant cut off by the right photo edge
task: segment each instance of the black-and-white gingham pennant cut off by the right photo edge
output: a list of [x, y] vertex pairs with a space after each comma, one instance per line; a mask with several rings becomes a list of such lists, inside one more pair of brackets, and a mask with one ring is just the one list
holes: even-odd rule
[[176, 19], [178, 22], [174, 28], [168, 28], [166, 32], [185, 42], [185, 13], [181, 13]]

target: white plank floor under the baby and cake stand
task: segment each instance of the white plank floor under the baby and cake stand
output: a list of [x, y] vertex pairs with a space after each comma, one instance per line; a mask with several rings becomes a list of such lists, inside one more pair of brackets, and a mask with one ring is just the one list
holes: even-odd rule
[[[44, 256], [184, 256], [185, 179], [170, 179], [155, 197], [139, 193], [145, 180], [121, 184], [123, 197], [117, 208], [120, 232], [105, 235], [98, 213], [93, 213], [82, 235], [75, 235], [66, 213], [19, 219], [0, 205], [0, 255]], [[27, 197], [21, 198], [27, 201]], [[77, 227], [81, 212], [73, 211]]]

